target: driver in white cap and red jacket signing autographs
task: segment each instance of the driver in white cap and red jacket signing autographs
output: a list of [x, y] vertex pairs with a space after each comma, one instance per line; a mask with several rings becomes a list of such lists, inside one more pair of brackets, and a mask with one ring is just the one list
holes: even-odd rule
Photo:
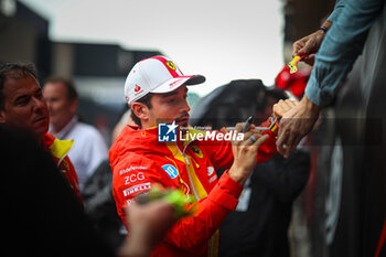
[[[257, 162], [276, 153], [275, 132], [267, 130], [262, 136], [254, 126], [243, 140], [233, 142], [218, 140], [225, 136], [208, 140], [178, 137], [189, 121], [187, 86], [204, 81], [201, 75], [183, 75], [164, 56], [154, 56], [137, 63], [125, 83], [125, 96], [137, 126], [126, 126], [109, 151], [114, 197], [122, 222], [127, 226], [125, 207], [154, 184], [179, 189], [196, 201], [197, 211], [176, 222], [151, 256], [217, 256], [218, 228], [235, 210], [243, 184]], [[242, 127], [238, 124], [236, 131]], [[189, 129], [186, 133], [201, 131]], [[172, 142], [162, 141], [168, 136], [173, 136]], [[218, 168], [230, 169], [217, 179]]]

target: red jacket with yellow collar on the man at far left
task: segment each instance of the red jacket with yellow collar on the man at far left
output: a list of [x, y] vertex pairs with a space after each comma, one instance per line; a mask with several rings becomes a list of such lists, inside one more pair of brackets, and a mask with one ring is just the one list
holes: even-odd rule
[[77, 181], [77, 175], [73, 163], [71, 162], [67, 152], [73, 146], [74, 140], [58, 140], [51, 133], [45, 133], [42, 137], [42, 142], [44, 149], [51, 153], [54, 159], [57, 169], [61, 171], [62, 175], [68, 182], [71, 189], [73, 190], [76, 199], [83, 206], [82, 194], [79, 190], [79, 183]]

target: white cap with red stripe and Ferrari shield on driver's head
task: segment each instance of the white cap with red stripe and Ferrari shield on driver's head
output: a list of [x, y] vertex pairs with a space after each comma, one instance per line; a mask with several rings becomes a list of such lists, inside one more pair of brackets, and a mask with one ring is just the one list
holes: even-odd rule
[[131, 105], [149, 93], [172, 92], [183, 84], [205, 82], [202, 75], [183, 75], [174, 63], [164, 56], [153, 56], [138, 62], [125, 82], [125, 97]]

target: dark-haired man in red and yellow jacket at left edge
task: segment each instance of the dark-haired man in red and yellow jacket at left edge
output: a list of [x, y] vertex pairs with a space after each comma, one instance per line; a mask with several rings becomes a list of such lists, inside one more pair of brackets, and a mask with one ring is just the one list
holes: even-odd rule
[[[82, 202], [78, 181], [67, 152], [72, 141], [57, 140], [47, 133], [49, 108], [36, 79], [33, 64], [6, 64], [0, 67], [0, 125], [25, 130], [34, 136], [54, 161]], [[20, 146], [22, 147], [22, 146]]]

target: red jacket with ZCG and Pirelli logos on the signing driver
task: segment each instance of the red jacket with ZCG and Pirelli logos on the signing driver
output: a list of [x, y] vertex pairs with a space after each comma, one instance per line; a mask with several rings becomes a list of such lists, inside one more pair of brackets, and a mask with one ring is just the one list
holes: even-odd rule
[[[225, 135], [224, 131], [217, 133]], [[268, 133], [270, 138], [259, 147], [257, 162], [267, 161], [276, 153], [276, 135]], [[226, 172], [219, 180], [215, 172], [215, 169], [230, 168], [230, 141], [179, 138], [176, 142], [158, 142], [158, 127], [141, 130], [126, 126], [109, 151], [109, 160], [117, 211], [128, 231], [125, 207], [153, 183], [179, 189], [199, 201], [197, 211], [179, 219], [151, 256], [215, 256], [218, 253], [218, 228], [228, 212], [236, 208], [243, 191]]]

